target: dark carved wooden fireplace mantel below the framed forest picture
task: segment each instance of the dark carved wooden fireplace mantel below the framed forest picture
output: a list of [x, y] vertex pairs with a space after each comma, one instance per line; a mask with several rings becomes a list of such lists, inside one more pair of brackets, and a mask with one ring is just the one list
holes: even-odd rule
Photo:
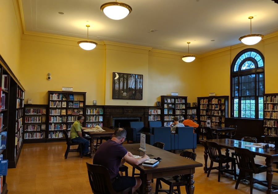
[[113, 126], [113, 118], [117, 117], [133, 117], [144, 122], [144, 126], [148, 126], [149, 108], [147, 106], [103, 106], [104, 123], [103, 126]]

